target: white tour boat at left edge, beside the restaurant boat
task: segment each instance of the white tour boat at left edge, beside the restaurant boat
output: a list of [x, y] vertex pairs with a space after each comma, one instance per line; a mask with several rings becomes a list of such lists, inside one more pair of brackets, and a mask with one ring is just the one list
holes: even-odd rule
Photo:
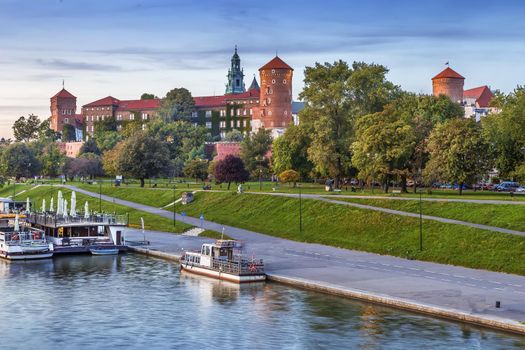
[[24, 227], [4, 228], [0, 232], [0, 257], [9, 260], [45, 259], [53, 256], [53, 244], [46, 241], [44, 231]]

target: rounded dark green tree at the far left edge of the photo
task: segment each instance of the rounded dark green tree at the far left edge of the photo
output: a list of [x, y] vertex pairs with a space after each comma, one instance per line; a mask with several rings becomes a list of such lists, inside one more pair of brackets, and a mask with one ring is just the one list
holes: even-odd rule
[[3, 176], [12, 176], [18, 180], [37, 175], [40, 162], [26, 144], [13, 143], [2, 152], [0, 169]]

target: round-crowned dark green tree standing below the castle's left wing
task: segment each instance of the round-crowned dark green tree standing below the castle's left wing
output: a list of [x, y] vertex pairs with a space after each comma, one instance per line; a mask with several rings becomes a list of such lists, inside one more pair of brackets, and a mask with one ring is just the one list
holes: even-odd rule
[[145, 132], [137, 133], [122, 141], [117, 158], [117, 169], [122, 175], [135, 177], [144, 187], [144, 180], [168, 173], [169, 151], [165, 143]]

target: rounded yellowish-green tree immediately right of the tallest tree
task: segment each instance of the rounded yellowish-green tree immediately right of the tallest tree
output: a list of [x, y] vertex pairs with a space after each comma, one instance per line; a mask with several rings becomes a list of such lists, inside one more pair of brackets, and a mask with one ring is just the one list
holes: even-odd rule
[[352, 163], [363, 180], [380, 179], [385, 193], [393, 176], [406, 176], [408, 159], [416, 143], [409, 123], [392, 108], [361, 116], [355, 124]]

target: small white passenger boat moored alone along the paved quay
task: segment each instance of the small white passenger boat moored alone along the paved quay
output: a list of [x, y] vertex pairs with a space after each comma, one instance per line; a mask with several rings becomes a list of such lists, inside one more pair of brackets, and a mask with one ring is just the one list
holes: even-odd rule
[[200, 252], [186, 252], [181, 257], [181, 270], [236, 283], [266, 280], [263, 261], [244, 258], [241, 248], [235, 240], [203, 244]]

